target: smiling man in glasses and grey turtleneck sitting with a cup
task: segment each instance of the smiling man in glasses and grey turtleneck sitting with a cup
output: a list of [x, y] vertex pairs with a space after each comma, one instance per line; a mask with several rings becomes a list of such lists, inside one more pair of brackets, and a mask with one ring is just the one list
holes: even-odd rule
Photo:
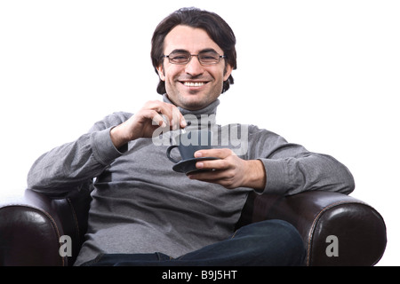
[[[350, 193], [354, 180], [332, 157], [310, 153], [268, 130], [216, 124], [218, 98], [234, 83], [235, 43], [215, 13], [173, 12], [152, 39], [163, 101], [150, 101], [136, 114], [108, 115], [89, 133], [35, 162], [28, 186], [38, 192], [65, 196], [71, 186], [92, 190], [89, 228], [76, 265], [303, 263], [300, 234], [284, 221], [234, 232], [247, 194]], [[196, 162], [202, 171], [188, 176], [175, 172], [166, 148], [180, 129], [199, 128], [212, 130], [216, 146], [195, 157], [218, 159]], [[232, 140], [225, 143], [237, 130], [244, 145], [238, 152]]]

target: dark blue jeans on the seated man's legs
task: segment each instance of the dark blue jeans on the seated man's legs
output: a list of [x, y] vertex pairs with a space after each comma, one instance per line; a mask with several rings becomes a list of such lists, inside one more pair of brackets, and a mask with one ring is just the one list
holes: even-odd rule
[[282, 220], [268, 220], [238, 229], [226, 240], [172, 258], [162, 253], [102, 254], [89, 266], [298, 266], [306, 249], [298, 231]]

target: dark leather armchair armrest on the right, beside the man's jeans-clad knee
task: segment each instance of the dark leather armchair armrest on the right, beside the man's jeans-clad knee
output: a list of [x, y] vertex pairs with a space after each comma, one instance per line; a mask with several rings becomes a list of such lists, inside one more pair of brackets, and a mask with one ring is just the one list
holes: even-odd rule
[[285, 197], [251, 193], [241, 224], [265, 219], [282, 219], [297, 228], [307, 248], [306, 265], [374, 265], [386, 248], [386, 226], [380, 214], [342, 193], [316, 191]]

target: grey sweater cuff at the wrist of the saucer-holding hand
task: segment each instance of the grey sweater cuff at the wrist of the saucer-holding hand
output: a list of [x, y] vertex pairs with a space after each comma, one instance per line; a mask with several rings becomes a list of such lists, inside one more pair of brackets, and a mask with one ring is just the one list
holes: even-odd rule
[[267, 182], [264, 190], [257, 193], [284, 194], [290, 189], [287, 162], [284, 160], [258, 159], [264, 164]]

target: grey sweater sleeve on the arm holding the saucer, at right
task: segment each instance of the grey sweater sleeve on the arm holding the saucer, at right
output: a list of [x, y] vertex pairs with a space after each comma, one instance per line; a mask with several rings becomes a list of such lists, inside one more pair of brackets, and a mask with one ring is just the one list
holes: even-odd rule
[[332, 156], [309, 152], [268, 130], [252, 127], [249, 134], [249, 159], [260, 160], [267, 175], [266, 186], [258, 193], [324, 190], [348, 194], [354, 190], [350, 171]]

